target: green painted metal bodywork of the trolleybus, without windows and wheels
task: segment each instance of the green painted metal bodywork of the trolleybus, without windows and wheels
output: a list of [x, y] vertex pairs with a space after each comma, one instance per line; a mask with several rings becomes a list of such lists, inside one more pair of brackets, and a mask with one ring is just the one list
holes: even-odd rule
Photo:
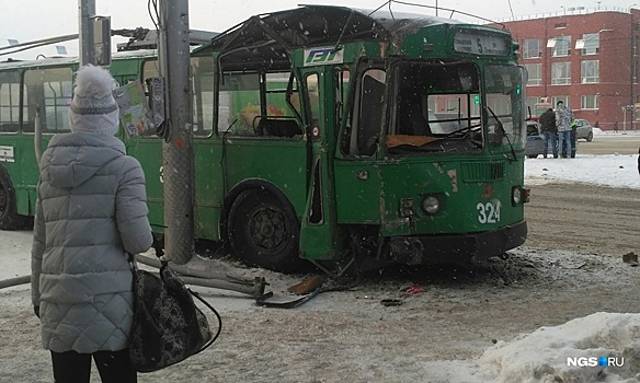
[[[350, 11], [343, 8], [308, 9], [313, 14], [322, 12], [328, 15], [335, 14], [335, 19], [343, 21], [355, 18], [350, 16]], [[299, 14], [292, 12], [290, 15], [289, 13], [282, 15], [286, 19], [307, 18], [309, 14], [300, 11]], [[275, 13], [271, 18], [276, 20], [278, 15], [279, 13]], [[357, 16], [369, 20], [359, 13]], [[374, 32], [370, 32], [370, 35], [357, 37], [357, 33], [354, 33], [347, 37], [347, 32], [344, 35], [336, 34], [339, 39], [328, 38], [305, 45], [293, 39], [286, 40], [283, 37], [284, 33], [278, 35], [276, 22], [264, 30], [260, 23], [253, 21], [251, 24], [252, 21], [249, 20], [244, 30], [242, 30], [244, 26], [241, 26], [240, 30], [222, 33], [214, 38], [209, 46], [194, 51], [196, 60], [214, 58], [212, 66], [214, 85], [207, 85], [214, 92], [220, 89], [219, 77], [224, 70], [267, 72], [275, 68], [278, 71], [292, 72], [297, 83], [299, 109], [288, 111], [284, 96], [278, 98], [275, 106], [293, 116], [292, 118], [295, 117], [302, 129], [293, 137], [231, 134], [229, 129], [232, 130], [233, 124], [237, 123], [231, 119], [238, 120], [248, 103], [262, 101], [251, 98], [253, 94], [241, 93], [236, 93], [230, 98], [229, 115], [236, 117], [230, 117], [227, 125], [213, 124], [210, 135], [195, 136], [193, 140], [196, 237], [225, 241], [226, 220], [231, 204], [242, 190], [250, 188], [277, 190], [277, 194], [284, 196], [300, 222], [300, 256], [317, 265], [324, 265], [325, 260], [344, 258], [351, 248], [353, 233], [362, 228], [367, 232], [377, 233], [377, 243], [385, 244], [397, 239], [420, 241], [439, 236], [464, 239], [523, 224], [524, 205], [513, 204], [512, 194], [514, 188], [522, 189], [524, 183], [524, 140], [515, 132], [519, 129], [515, 120], [522, 118], [524, 123], [524, 114], [514, 106], [524, 95], [510, 95], [513, 103], [513, 137], [517, 138], [513, 142], [489, 144], [487, 121], [491, 115], [488, 109], [482, 109], [478, 117], [483, 121], [481, 127], [483, 143], [480, 149], [397, 153], [389, 144], [385, 144], [387, 140], [397, 136], [390, 130], [392, 114], [397, 107], [393, 95], [396, 85], [393, 80], [388, 79], [392, 79], [392, 71], [399, 68], [398, 65], [430, 62], [435, 67], [442, 61], [452, 65], [469, 62], [480, 79], [478, 98], [481, 104], [489, 104], [489, 92], [485, 88], [488, 66], [515, 67], [517, 62], [515, 56], [517, 47], [512, 44], [511, 36], [506, 32], [453, 21], [425, 21], [419, 18], [404, 22], [384, 19], [377, 22], [379, 24], [372, 28]], [[508, 51], [484, 56], [464, 51], [467, 43], [455, 43], [456, 38], [462, 40], [466, 36], [456, 35], [461, 30], [473, 31], [480, 36], [484, 33], [502, 36], [500, 38], [508, 40]], [[238, 31], [244, 31], [249, 36], [258, 35], [260, 32], [268, 38], [282, 39], [277, 50], [282, 55], [275, 60], [265, 57], [262, 61], [249, 59], [233, 61], [233, 55], [241, 51], [238, 48], [242, 47], [242, 44], [250, 46], [252, 43], [251, 38], [245, 39], [245, 43], [238, 39], [236, 37]], [[255, 39], [259, 40], [258, 37]], [[462, 48], [454, 49], [456, 44]], [[342, 55], [339, 62], [331, 62], [331, 55], [312, 53], [312, 49], [336, 47]], [[144, 81], [144, 62], [153, 59], [150, 55], [116, 58], [110, 70], [123, 84], [128, 81]], [[229, 61], [225, 61], [226, 59]], [[36, 63], [18, 66], [18, 69], [26, 70], [34, 65]], [[52, 65], [77, 69], [73, 61]], [[370, 153], [362, 154], [350, 152], [348, 143], [345, 142], [354, 129], [354, 115], [358, 111], [356, 98], [358, 90], [363, 86], [361, 83], [365, 71], [363, 68], [367, 66], [385, 70], [387, 82], [378, 106], [382, 111], [382, 119], [376, 127], [375, 149]], [[0, 73], [2, 70], [9, 70], [9, 67], [11, 66], [0, 65]], [[347, 73], [340, 91], [336, 91], [338, 73]], [[306, 80], [308, 76], [315, 79], [312, 86], [311, 82]], [[522, 85], [522, 81], [517, 85]], [[315, 92], [319, 94], [317, 102], [309, 95], [310, 88], [315, 86], [317, 86]], [[521, 88], [517, 89], [519, 92]], [[341, 100], [342, 96], [344, 100]], [[214, 103], [210, 106], [215, 108], [215, 105]], [[206, 105], [201, 103], [199, 106]], [[218, 112], [213, 113], [215, 119]], [[43, 148], [46, 147], [49, 137], [44, 135]], [[162, 165], [162, 139], [157, 136], [128, 137], [122, 128], [119, 137], [125, 142], [127, 152], [136, 156], [145, 170], [149, 218], [153, 224], [161, 228], [164, 224], [162, 174], [171, 171]], [[15, 160], [0, 162], [0, 165], [11, 175], [16, 190], [19, 213], [33, 214], [38, 177], [33, 135], [2, 132], [0, 148], [7, 146], [13, 148]], [[436, 196], [439, 200], [441, 209], [436, 214], [426, 213], [421, 208], [423, 199], [427, 196]], [[524, 237], [511, 242], [508, 246], [522, 242]], [[448, 242], [447, 246], [455, 247], [455, 241]], [[499, 254], [503, 249], [503, 246], [496, 245], [494, 253]], [[441, 251], [456, 252], [456, 248]], [[384, 255], [380, 252], [378, 248], [376, 257]], [[351, 254], [347, 257], [353, 256]]]

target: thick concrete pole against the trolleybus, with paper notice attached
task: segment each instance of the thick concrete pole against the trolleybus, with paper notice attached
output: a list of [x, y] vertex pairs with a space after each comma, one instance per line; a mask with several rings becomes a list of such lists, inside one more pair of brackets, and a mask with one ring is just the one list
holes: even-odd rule
[[170, 260], [184, 264], [191, 259], [194, 247], [188, 0], [161, 0], [160, 28], [158, 55], [167, 86], [169, 129], [162, 146], [164, 249]]

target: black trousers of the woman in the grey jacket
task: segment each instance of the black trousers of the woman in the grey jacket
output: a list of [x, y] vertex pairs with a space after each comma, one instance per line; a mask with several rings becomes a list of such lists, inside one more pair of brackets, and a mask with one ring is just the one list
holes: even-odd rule
[[91, 358], [95, 360], [102, 383], [136, 383], [138, 375], [129, 350], [98, 351], [78, 353], [76, 351], [54, 352], [54, 380], [56, 383], [89, 383], [91, 379]]

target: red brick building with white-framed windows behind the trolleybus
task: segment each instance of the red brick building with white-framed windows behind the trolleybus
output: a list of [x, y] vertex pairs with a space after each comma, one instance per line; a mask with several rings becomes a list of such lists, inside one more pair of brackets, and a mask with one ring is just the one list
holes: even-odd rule
[[501, 24], [519, 43], [532, 115], [562, 100], [603, 130], [615, 121], [620, 131], [640, 129], [640, 10], [568, 9]]

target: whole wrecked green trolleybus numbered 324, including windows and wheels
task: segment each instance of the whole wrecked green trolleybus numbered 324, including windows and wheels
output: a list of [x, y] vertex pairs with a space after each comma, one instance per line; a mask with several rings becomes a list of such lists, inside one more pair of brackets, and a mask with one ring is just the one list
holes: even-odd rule
[[[508, 32], [421, 14], [304, 5], [192, 51], [194, 231], [250, 265], [328, 274], [466, 263], [527, 235], [526, 71]], [[122, 84], [157, 76], [114, 57]], [[42, 61], [42, 62], [41, 62]], [[33, 213], [35, 105], [67, 129], [68, 59], [0, 65], [0, 228]], [[55, 123], [54, 123], [55, 121]], [[162, 138], [121, 127], [162, 228]]]

